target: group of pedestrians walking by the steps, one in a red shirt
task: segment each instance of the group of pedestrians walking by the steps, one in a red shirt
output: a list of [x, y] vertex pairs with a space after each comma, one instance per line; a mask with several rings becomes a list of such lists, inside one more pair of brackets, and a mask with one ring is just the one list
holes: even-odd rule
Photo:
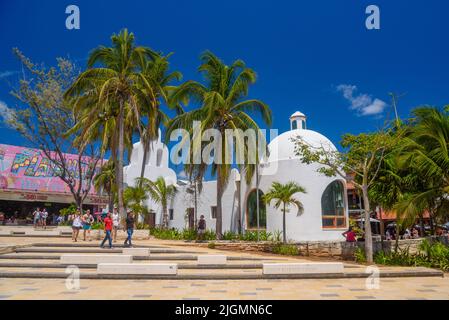
[[[86, 241], [87, 235], [87, 241], [92, 241], [90, 230], [92, 229], [92, 224], [95, 222], [95, 218], [90, 213], [90, 210], [86, 210], [86, 212], [82, 215], [78, 209], [73, 215], [69, 216], [69, 221], [72, 222], [72, 241], [78, 241], [78, 235], [81, 229], [83, 229], [83, 240]], [[121, 229], [121, 219], [117, 208], [114, 208], [112, 213], [107, 212], [105, 217], [102, 218], [102, 223], [105, 231], [105, 237], [101, 242], [100, 247], [104, 248], [106, 241], [108, 241], [109, 248], [112, 249], [112, 243], [117, 241], [117, 232]], [[131, 210], [128, 210], [124, 224], [127, 232], [127, 238], [124, 245], [127, 247], [132, 247], [132, 235], [135, 228], [135, 219], [134, 213]]]

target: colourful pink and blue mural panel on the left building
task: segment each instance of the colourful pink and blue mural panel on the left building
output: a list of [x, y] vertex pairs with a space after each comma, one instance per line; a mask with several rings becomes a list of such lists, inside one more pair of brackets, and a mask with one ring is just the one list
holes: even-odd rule
[[[79, 178], [78, 156], [66, 154], [69, 171]], [[83, 168], [86, 163], [81, 164]], [[37, 149], [0, 144], [0, 188], [39, 192], [70, 192], [57, 168]], [[91, 194], [95, 194], [92, 187]]]

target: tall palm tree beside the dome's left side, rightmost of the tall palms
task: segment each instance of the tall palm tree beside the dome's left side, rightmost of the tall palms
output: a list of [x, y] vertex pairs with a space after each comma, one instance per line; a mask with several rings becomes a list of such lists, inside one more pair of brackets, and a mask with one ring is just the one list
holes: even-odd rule
[[[199, 72], [204, 76], [206, 83], [201, 84], [196, 81], [187, 81], [181, 84], [173, 91], [171, 95], [172, 104], [188, 103], [189, 100], [199, 102], [200, 107], [193, 111], [183, 113], [170, 121], [167, 137], [175, 129], [185, 129], [192, 135], [194, 121], [201, 121], [201, 132], [207, 129], [216, 129], [221, 134], [221, 150], [216, 150], [213, 155], [212, 174], [217, 176], [217, 238], [222, 238], [222, 196], [229, 180], [232, 169], [230, 161], [225, 159], [228, 141], [225, 135], [227, 129], [248, 129], [254, 130], [256, 135], [259, 133], [259, 126], [250, 116], [255, 112], [261, 115], [263, 121], [271, 124], [271, 111], [262, 101], [256, 99], [245, 100], [248, 95], [250, 85], [256, 81], [254, 70], [246, 67], [242, 60], [237, 60], [228, 66], [211, 52], [205, 52], [201, 55], [202, 64]], [[238, 143], [245, 144], [244, 139], [236, 134]], [[204, 145], [204, 144], [203, 144]], [[201, 150], [202, 151], [202, 150]], [[229, 151], [229, 150], [228, 150]], [[203, 153], [203, 152], [201, 152]], [[245, 145], [245, 158], [249, 154], [258, 153], [256, 150], [249, 150]], [[195, 155], [194, 155], [195, 157]], [[258, 163], [258, 162], [256, 162]], [[245, 161], [238, 164], [241, 171], [246, 172], [247, 182], [253, 176], [254, 164]], [[194, 168], [192, 168], [194, 167]], [[207, 165], [202, 161], [196, 163], [186, 170], [186, 172], [195, 172], [195, 181], [201, 181], [204, 176]]]

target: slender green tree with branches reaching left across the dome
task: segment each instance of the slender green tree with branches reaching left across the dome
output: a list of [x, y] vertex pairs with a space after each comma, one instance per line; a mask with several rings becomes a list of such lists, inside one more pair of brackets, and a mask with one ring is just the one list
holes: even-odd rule
[[365, 252], [368, 263], [373, 262], [373, 239], [371, 233], [371, 207], [369, 189], [373, 185], [383, 162], [385, 153], [394, 144], [395, 139], [388, 132], [346, 134], [341, 145], [345, 149], [339, 152], [329, 146], [311, 146], [301, 137], [293, 139], [295, 153], [306, 164], [322, 165], [318, 172], [333, 177], [353, 179], [354, 186], [363, 197], [365, 219]]

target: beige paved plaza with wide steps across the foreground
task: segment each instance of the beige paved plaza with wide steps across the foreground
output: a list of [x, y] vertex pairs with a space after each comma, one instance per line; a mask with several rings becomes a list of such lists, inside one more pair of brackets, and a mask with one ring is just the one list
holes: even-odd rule
[[[0, 237], [0, 248], [15, 245], [16, 252], [0, 254], [0, 274], [48, 273], [64, 274], [59, 266], [59, 256], [64, 252], [82, 251], [95, 254], [98, 241], [79, 242], [72, 246], [70, 238]], [[449, 278], [441, 276], [397, 277], [379, 279], [379, 286], [370, 289], [365, 278], [345, 279], [244, 279], [259, 275], [263, 262], [306, 262], [308, 259], [270, 254], [231, 252], [199, 248], [174, 241], [136, 241], [137, 246], [153, 248], [152, 257], [158, 262], [173, 262], [179, 266], [179, 275], [186, 279], [85, 279], [81, 276], [78, 289], [67, 289], [66, 276], [50, 278], [10, 278], [0, 276], [0, 299], [448, 299]], [[33, 246], [31, 246], [33, 245]], [[89, 253], [90, 252], [90, 253]], [[108, 249], [104, 249], [108, 252]], [[198, 269], [190, 258], [198, 254], [226, 254], [228, 267]], [[164, 260], [166, 259], [166, 260]], [[326, 261], [326, 260], [323, 260]], [[145, 263], [145, 261], [136, 261]], [[148, 261], [146, 261], [148, 263]], [[345, 273], [363, 273], [365, 266], [345, 262]], [[380, 267], [381, 274], [406, 273], [425, 268]], [[431, 270], [430, 270], [431, 271]], [[81, 274], [94, 274], [89, 266], [80, 269]], [[189, 279], [195, 275], [197, 278]], [[215, 279], [216, 276], [225, 279]], [[238, 280], [226, 279], [230, 276]], [[198, 277], [199, 276], [199, 277]], [[202, 280], [204, 279], [204, 280]], [[369, 280], [368, 280], [369, 281]], [[368, 282], [368, 284], [371, 282]]]

